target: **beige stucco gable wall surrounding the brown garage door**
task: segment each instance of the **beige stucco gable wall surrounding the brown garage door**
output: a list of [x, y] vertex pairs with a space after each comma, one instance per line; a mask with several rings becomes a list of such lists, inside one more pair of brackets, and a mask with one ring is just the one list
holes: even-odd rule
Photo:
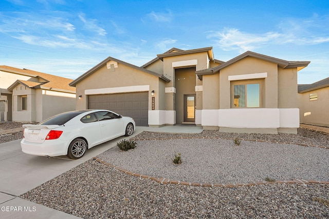
[[[155, 109], [159, 109], [159, 90], [163, 90], [163, 85], [159, 86], [159, 77], [138, 69], [125, 66], [118, 63], [118, 67], [114, 72], [107, 69], [106, 65], [98, 69], [96, 72], [88, 75], [82, 81], [77, 83], [77, 110], [87, 109], [87, 95], [85, 90], [88, 89], [101, 89], [101, 88], [117, 88], [127, 86], [149, 85], [149, 110], [152, 109], [151, 91], [155, 91]], [[78, 96], [82, 95], [79, 99]], [[161, 104], [162, 107], [162, 104]]]

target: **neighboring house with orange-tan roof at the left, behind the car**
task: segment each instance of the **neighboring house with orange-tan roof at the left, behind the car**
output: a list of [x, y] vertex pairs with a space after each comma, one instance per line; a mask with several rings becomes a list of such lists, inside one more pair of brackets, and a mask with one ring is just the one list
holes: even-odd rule
[[71, 79], [9, 66], [0, 66], [1, 121], [41, 122], [75, 110]]

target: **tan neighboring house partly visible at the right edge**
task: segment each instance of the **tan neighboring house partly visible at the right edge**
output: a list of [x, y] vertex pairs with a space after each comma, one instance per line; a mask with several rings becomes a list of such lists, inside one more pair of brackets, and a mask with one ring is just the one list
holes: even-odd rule
[[298, 85], [300, 123], [329, 127], [329, 77]]

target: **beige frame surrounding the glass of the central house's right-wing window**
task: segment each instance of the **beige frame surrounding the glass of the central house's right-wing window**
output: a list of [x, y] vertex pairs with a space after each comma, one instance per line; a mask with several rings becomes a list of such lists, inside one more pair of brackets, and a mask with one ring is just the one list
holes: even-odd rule
[[[263, 98], [264, 98], [264, 78], [260, 79], [247, 79], [247, 80], [237, 80], [231, 81], [230, 83], [230, 99], [231, 99], [231, 108], [232, 109], [246, 109], [246, 108], [263, 108]], [[245, 98], [246, 98], [246, 107], [234, 107], [234, 86], [235, 85], [251, 85], [251, 84], [259, 84], [259, 107], [248, 107], [247, 103], [247, 89], [245, 90]]]

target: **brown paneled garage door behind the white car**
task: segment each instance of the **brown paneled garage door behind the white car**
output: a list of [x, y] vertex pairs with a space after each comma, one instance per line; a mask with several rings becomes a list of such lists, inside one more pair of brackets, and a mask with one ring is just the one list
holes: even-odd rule
[[136, 126], [148, 126], [149, 92], [88, 96], [88, 109], [107, 109], [134, 118]]

